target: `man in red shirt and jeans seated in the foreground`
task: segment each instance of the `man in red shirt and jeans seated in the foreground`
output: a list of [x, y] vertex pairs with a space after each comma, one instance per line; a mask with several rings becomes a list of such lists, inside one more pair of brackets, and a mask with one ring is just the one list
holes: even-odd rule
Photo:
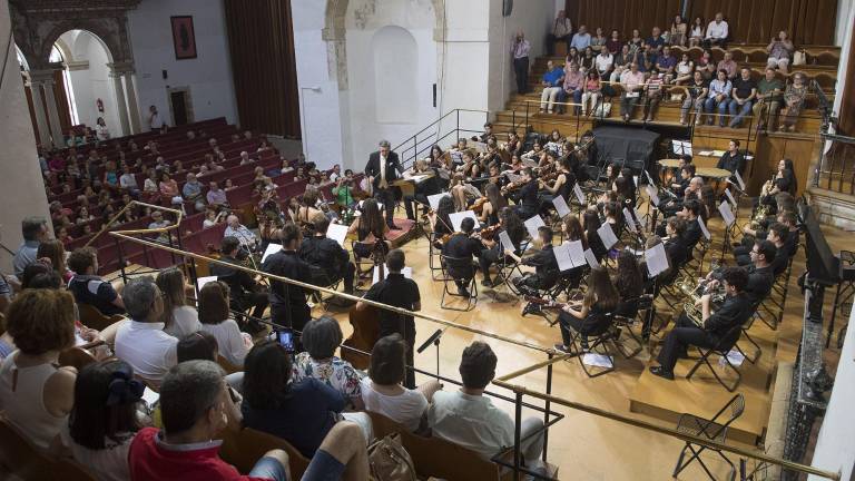
[[[160, 384], [160, 414], [164, 429], [144, 428], [130, 445], [132, 480], [288, 481], [288, 455], [283, 450], [265, 453], [248, 475], [219, 458], [222, 441], [214, 438], [240, 420], [235, 419], [239, 413], [216, 363], [187, 361], [169, 370]], [[327, 479], [368, 479], [367, 449], [357, 424], [337, 422], [302, 478]]]

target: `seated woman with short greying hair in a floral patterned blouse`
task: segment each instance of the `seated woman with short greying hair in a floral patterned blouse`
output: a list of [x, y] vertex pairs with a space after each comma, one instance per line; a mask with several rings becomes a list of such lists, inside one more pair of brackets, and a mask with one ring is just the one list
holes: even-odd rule
[[365, 404], [362, 402], [360, 374], [351, 363], [335, 356], [343, 337], [338, 321], [330, 316], [321, 316], [306, 324], [302, 338], [306, 351], [294, 357], [292, 382], [314, 377], [338, 391], [347, 401], [347, 409], [361, 411]]

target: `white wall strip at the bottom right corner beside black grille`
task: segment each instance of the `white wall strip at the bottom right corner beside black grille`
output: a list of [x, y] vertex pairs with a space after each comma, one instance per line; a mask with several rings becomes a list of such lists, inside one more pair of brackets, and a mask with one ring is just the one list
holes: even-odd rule
[[[828, 292], [826, 292], [826, 296]], [[849, 313], [849, 325], [855, 321], [855, 310]], [[834, 377], [834, 389], [828, 409], [823, 418], [823, 425], [816, 440], [814, 459], [810, 465], [826, 471], [841, 472], [842, 480], [852, 479], [855, 464], [855, 330], [846, 330], [846, 340], [841, 352], [841, 362]], [[825, 478], [809, 475], [808, 481]]]

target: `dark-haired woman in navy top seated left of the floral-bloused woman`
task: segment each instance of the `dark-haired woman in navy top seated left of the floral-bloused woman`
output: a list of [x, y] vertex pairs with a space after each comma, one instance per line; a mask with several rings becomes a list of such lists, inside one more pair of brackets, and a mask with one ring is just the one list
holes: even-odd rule
[[324, 436], [341, 419], [354, 421], [370, 439], [371, 420], [365, 413], [342, 411], [347, 405], [338, 391], [306, 377], [291, 382], [291, 354], [276, 341], [256, 344], [244, 362], [244, 425], [289, 442], [312, 458]]

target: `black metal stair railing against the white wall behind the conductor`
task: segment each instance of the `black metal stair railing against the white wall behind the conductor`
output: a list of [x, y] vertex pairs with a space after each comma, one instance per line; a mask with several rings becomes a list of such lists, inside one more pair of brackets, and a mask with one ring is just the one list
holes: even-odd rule
[[[462, 119], [461, 114], [463, 115]], [[407, 168], [415, 159], [426, 157], [434, 145], [439, 145], [449, 137], [456, 141], [461, 134], [482, 134], [484, 131], [483, 126], [489, 119], [490, 112], [487, 110], [454, 109], [432, 121], [406, 140], [393, 146], [392, 150], [397, 153], [401, 165]]]

